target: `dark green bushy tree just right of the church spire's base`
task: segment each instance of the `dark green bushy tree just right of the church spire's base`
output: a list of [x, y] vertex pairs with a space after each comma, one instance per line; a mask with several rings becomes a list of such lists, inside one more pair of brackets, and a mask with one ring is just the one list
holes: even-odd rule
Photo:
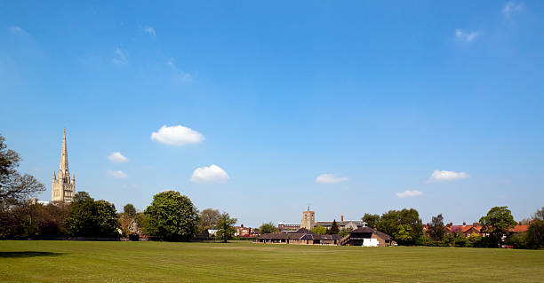
[[106, 200], [93, 200], [89, 193], [78, 192], [65, 220], [68, 235], [77, 237], [116, 237], [116, 207]]

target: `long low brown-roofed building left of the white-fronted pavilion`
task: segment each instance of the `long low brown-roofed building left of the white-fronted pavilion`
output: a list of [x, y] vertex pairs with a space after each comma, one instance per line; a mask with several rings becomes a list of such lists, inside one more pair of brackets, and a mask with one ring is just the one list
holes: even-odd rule
[[327, 245], [340, 244], [340, 235], [319, 235], [306, 228], [300, 228], [296, 232], [276, 232], [260, 235], [255, 240], [262, 244], [291, 244], [291, 245]]

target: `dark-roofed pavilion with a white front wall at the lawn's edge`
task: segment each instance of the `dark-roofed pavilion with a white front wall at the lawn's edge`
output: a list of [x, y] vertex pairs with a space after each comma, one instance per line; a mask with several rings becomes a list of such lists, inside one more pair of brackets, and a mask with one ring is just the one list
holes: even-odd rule
[[340, 240], [342, 246], [363, 246], [363, 247], [388, 247], [396, 246], [396, 241], [391, 237], [371, 227], [361, 227], [350, 232]]

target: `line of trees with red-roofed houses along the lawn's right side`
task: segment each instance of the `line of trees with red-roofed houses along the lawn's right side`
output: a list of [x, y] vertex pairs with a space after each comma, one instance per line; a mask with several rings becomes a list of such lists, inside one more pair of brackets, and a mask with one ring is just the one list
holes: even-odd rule
[[[444, 216], [433, 216], [431, 223], [423, 229], [417, 210], [389, 210], [383, 215], [364, 214], [361, 218], [369, 227], [390, 235], [400, 245], [419, 245], [429, 247], [468, 247], [468, 248], [544, 248], [544, 208], [538, 210], [526, 232], [515, 232], [517, 222], [507, 207], [494, 207], [479, 220], [479, 232], [468, 237], [463, 232], [448, 232]], [[482, 236], [481, 234], [484, 234]]]

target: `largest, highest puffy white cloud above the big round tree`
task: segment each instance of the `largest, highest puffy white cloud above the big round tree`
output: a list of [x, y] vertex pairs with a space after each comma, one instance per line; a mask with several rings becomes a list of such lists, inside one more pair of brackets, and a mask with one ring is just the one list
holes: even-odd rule
[[181, 125], [171, 127], [164, 125], [158, 131], [151, 133], [151, 139], [166, 145], [185, 145], [200, 143], [204, 140], [204, 136], [196, 130]]

